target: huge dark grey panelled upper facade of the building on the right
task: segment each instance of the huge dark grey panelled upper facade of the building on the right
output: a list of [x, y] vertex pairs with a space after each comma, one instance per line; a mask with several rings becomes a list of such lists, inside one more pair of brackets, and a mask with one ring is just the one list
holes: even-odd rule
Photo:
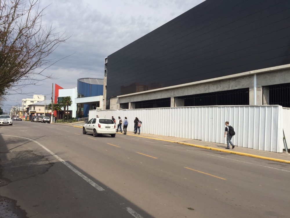
[[[117, 96], [288, 64], [289, 0], [206, 0], [106, 58], [106, 108]], [[249, 105], [249, 88], [229, 104]]]

